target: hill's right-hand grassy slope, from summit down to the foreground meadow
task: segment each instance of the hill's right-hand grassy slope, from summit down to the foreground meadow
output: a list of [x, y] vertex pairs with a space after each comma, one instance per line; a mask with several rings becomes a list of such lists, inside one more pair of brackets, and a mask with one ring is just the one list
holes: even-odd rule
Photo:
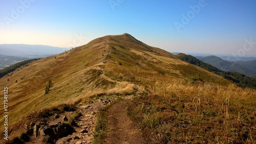
[[106, 63], [106, 76], [115, 80], [143, 83], [143, 78], [158, 78], [159, 74], [165, 74], [169, 79], [197, 77], [205, 82], [230, 84], [207, 70], [179, 60], [175, 55], [145, 45], [129, 34], [117, 36], [109, 45], [112, 53], [109, 54], [110, 62]]

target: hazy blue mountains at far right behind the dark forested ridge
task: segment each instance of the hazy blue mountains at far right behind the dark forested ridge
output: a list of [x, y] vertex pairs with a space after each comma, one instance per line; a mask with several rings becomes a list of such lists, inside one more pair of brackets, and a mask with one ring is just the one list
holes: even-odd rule
[[[208, 63], [224, 71], [236, 71], [249, 77], [256, 78], [256, 60], [251, 61], [227, 61], [216, 56], [197, 56], [199, 60]], [[248, 58], [253, 59], [253, 57]], [[248, 60], [247, 59], [247, 60]]]

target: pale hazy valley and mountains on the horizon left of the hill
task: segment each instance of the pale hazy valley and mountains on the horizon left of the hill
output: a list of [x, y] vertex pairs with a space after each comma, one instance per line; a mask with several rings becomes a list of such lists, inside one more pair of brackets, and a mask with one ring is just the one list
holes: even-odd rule
[[67, 50], [49, 45], [0, 44], [0, 69], [27, 59], [44, 58]]

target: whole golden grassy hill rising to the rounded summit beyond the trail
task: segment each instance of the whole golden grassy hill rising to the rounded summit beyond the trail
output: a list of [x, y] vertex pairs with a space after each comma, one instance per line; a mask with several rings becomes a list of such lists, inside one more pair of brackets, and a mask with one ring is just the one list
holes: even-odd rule
[[[141, 77], [157, 78], [160, 72], [169, 79], [196, 76], [204, 81], [229, 83], [127, 33], [100, 37], [65, 53], [35, 61], [1, 78], [0, 83], [10, 89], [10, 115], [15, 115], [18, 121], [34, 110], [73, 103], [116, 86], [110, 82], [99, 86], [104, 81], [98, 77], [101, 73], [119, 81], [139, 82]], [[44, 95], [49, 79], [53, 87]]]

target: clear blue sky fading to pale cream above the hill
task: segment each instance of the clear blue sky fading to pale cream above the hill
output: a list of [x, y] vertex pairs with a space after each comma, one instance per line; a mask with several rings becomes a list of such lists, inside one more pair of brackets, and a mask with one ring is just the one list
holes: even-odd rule
[[129, 33], [169, 52], [256, 56], [255, 7], [253, 0], [0, 0], [0, 44], [68, 47]]

